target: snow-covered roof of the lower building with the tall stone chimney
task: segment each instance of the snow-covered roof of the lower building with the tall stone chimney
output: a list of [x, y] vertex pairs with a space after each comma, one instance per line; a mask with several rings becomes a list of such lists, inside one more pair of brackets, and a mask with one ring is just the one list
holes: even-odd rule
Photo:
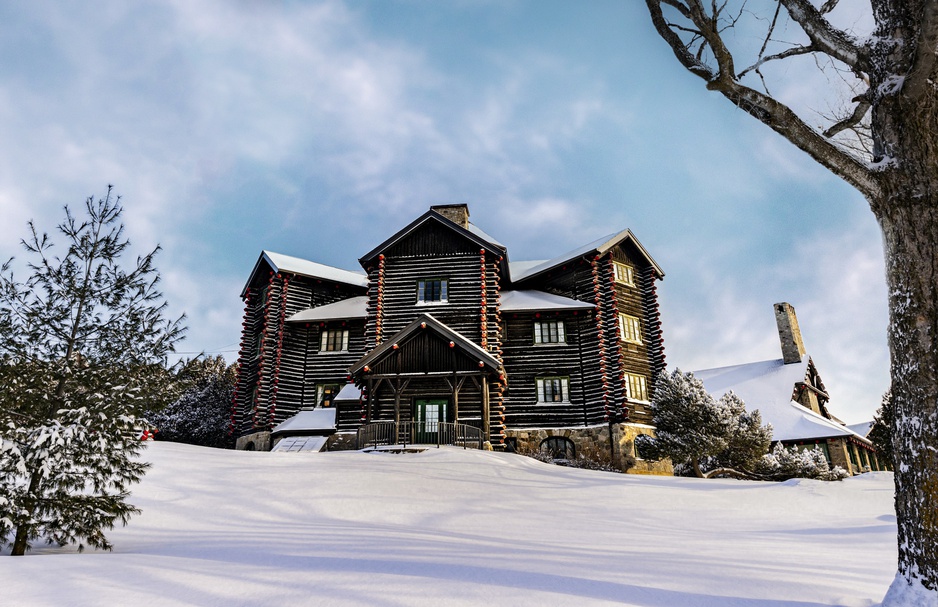
[[732, 390], [750, 411], [758, 409], [763, 423], [772, 424], [772, 438], [780, 441], [854, 436], [865, 438], [848, 427], [794, 402], [795, 384], [803, 382], [809, 358], [786, 365], [782, 359], [765, 360], [718, 369], [694, 371], [707, 392], [720, 397]]

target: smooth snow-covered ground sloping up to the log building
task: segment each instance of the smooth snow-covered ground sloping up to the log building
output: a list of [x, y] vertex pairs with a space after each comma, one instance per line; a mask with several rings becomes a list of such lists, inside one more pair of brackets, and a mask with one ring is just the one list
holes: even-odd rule
[[0, 557], [0, 605], [874, 605], [892, 475], [642, 477], [443, 448], [154, 443], [112, 553]]

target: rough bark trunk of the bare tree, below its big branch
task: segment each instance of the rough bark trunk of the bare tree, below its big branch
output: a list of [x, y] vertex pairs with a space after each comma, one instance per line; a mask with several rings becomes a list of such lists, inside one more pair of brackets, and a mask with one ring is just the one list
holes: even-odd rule
[[909, 604], [910, 587], [938, 591], [938, 183], [901, 181], [888, 200], [872, 201], [889, 287], [899, 525], [899, 572], [884, 607]]

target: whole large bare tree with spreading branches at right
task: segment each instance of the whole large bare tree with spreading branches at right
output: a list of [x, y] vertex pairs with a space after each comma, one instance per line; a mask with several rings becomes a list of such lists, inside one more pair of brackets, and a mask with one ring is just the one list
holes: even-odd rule
[[[707, 89], [853, 185], [879, 222], [899, 523], [899, 569], [883, 604], [938, 605], [938, 0], [645, 1]], [[834, 25], [858, 8], [874, 24], [865, 38]], [[848, 92], [821, 126], [769, 90], [772, 66], [805, 58]]]

